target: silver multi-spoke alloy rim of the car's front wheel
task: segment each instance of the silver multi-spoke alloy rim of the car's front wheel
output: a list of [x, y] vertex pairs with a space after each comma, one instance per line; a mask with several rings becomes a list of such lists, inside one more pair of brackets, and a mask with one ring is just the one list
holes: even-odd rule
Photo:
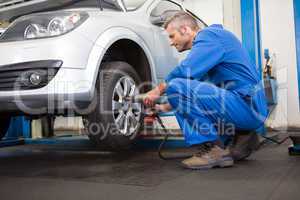
[[141, 103], [131, 102], [128, 97], [139, 94], [135, 81], [123, 76], [115, 85], [112, 96], [112, 111], [115, 125], [123, 135], [130, 136], [140, 126], [142, 113]]

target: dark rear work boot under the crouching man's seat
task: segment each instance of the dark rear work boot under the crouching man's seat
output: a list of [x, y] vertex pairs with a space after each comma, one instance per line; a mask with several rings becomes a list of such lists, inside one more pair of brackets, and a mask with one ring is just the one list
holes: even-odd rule
[[259, 139], [255, 132], [239, 131], [229, 145], [229, 151], [234, 161], [241, 161], [248, 158], [258, 145]]

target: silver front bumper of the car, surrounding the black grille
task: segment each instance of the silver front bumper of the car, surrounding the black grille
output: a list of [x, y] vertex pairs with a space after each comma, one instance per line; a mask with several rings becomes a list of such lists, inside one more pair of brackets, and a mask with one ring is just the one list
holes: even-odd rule
[[[91, 55], [94, 49], [97, 55]], [[48, 62], [46, 66], [43, 64], [47, 69], [58, 69], [49, 62], [62, 63], [55, 76], [43, 87], [1, 90], [0, 84], [0, 114], [85, 113], [83, 108], [89, 105], [94, 94], [99, 55], [104, 51], [104, 48], [94, 44], [94, 39], [88, 38], [79, 29], [60, 37], [1, 42], [0, 71], [3, 66], [24, 67], [24, 63], [30, 63], [28, 66], [33, 69], [39, 68], [37, 65], [41, 65], [41, 61]]]

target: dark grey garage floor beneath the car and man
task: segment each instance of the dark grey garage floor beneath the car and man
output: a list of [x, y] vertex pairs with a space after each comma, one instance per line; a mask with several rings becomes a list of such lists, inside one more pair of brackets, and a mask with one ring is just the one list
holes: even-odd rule
[[233, 168], [182, 169], [154, 150], [112, 154], [67, 145], [0, 148], [1, 199], [299, 199], [300, 157], [268, 145]]

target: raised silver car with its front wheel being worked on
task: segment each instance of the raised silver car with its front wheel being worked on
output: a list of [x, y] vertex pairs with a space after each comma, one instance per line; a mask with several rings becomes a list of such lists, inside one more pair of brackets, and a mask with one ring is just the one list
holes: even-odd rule
[[170, 0], [68, 0], [16, 19], [0, 38], [0, 136], [11, 116], [79, 115], [96, 145], [130, 147], [143, 108], [128, 97], [179, 62], [161, 26], [180, 10]]

